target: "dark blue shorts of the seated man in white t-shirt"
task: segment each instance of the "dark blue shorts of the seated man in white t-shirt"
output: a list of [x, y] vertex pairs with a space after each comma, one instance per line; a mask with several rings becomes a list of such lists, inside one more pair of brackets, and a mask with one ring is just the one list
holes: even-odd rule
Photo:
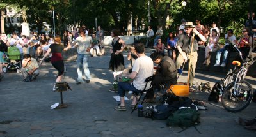
[[134, 92], [136, 94], [136, 96], [138, 96], [139, 92], [141, 92], [140, 90], [136, 89], [133, 84], [131, 84], [129, 82], [118, 82], [117, 90], [118, 90], [118, 94], [120, 97], [125, 96], [125, 90]]

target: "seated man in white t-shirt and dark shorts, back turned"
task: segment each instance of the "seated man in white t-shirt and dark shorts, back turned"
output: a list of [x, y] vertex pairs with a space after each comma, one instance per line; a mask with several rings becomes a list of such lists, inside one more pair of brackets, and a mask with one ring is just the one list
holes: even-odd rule
[[[137, 52], [138, 58], [134, 62], [132, 73], [122, 74], [122, 76], [133, 79], [133, 82], [118, 82], [118, 94], [120, 96], [120, 105], [116, 106], [115, 110], [126, 110], [124, 102], [125, 90], [130, 90], [134, 92], [136, 95], [138, 95], [139, 92], [143, 91], [146, 85], [146, 78], [152, 76], [154, 73], [153, 61], [150, 57], [147, 57], [145, 55], [145, 48], [143, 43], [136, 43], [135, 50]], [[148, 83], [146, 90], [149, 89], [149, 87], [150, 83]], [[133, 97], [131, 108], [134, 108], [136, 103], [137, 99], [136, 97]]]

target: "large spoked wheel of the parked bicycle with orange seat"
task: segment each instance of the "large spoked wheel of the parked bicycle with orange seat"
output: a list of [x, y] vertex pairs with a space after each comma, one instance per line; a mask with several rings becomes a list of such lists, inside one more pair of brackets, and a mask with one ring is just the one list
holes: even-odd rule
[[[251, 103], [253, 97], [253, 88], [249, 82], [240, 80], [237, 89], [234, 84], [235, 82], [228, 84], [221, 97], [222, 105], [228, 112], [240, 112]], [[247, 97], [244, 99], [246, 91]]]

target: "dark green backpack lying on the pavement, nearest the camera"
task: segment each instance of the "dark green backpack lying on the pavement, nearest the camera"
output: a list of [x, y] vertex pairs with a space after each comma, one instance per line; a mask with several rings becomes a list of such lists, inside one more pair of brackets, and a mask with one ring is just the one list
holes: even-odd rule
[[[170, 115], [170, 117], [168, 117], [166, 121], [166, 125], [181, 127], [182, 131], [184, 131], [188, 129], [188, 127], [191, 127], [191, 126], [195, 127], [196, 125], [200, 124], [199, 116], [200, 116], [200, 113], [195, 109], [182, 108], [174, 112], [173, 115]], [[182, 131], [179, 131], [178, 133]], [[198, 129], [196, 129], [196, 131], [198, 131]], [[200, 132], [198, 131], [198, 133]]]

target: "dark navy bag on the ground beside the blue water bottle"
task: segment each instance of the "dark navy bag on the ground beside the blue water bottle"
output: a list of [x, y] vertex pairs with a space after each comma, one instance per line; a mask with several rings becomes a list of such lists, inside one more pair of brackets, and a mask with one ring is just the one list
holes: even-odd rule
[[173, 111], [175, 111], [175, 108], [169, 105], [159, 105], [156, 106], [156, 108], [153, 108], [151, 110], [152, 112], [152, 119], [158, 119], [158, 120], [165, 120], [170, 115], [172, 115]]

